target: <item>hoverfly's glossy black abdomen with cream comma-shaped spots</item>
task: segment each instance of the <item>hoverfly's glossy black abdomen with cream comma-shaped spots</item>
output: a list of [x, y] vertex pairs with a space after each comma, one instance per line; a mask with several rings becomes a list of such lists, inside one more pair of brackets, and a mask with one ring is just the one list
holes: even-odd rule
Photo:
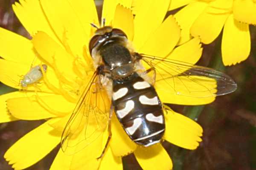
[[137, 73], [122, 82], [113, 80], [112, 103], [119, 122], [134, 142], [143, 146], [160, 142], [165, 122], [152, 85]]

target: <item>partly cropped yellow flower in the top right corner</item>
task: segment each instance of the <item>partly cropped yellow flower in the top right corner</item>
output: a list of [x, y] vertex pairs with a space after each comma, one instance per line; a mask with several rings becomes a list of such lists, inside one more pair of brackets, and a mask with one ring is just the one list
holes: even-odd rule
[[223, 29], [221, 53], [224, 65], [234, 65], [250, 54], [249, 25], [256, 24], [255, 0], [172, 0], [169, 10], [185, 6], [175, 14], [180, 25], [180, 44], [201, 37], [205, 44]]

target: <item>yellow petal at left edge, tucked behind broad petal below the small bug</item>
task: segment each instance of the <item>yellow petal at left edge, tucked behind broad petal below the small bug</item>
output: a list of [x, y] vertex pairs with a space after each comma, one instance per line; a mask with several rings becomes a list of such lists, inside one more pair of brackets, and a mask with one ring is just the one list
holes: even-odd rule
[[0, 123], [18, 120], [17, 118], [13, 117], [7, 110], [6, 100], [19, 95], [20, 95], [20, 91], [15, 91], [15, 92], [12, 92], [9, 94], [3, 94], [0, 96], [0, 113], [1, 113]]

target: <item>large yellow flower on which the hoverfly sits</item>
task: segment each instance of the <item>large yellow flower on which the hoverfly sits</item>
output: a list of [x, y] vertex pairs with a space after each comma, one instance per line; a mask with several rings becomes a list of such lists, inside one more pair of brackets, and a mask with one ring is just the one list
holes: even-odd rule
[[[169, 0], [145, 1], [144, 6], [136, 8], [135, 17], [130, 10], [136, 6], [135, 3], [123, 0], [121, 4], [125, 8], [116, 6], [116, 1], [105, 0], [102, 17], [106, 25], [125, 31], [137, 52], [189, 63], [198, 61], [202, 52], [199, 38], [175, 48], [180, 39], [180, 28], [172, 16], [163, 22]], [[95, 31], [90, 23], [99, 26], [99, 21], [93, 0], [20, 0], [20, 3], [13, 5], [13, 9], [33, 40], [0, 28], [0, 56], [4, 58], [0, 59], [0, 81], [22, 89], [0, 96], [0, 122], [47, 120], [5, 153], [9, 164], [15, 170], [21, 170], [40, 161], [60, 143], [62, 130], [94, 71], [87, 45]], [[46, 73], [43, 72], [40, 83], [23, 89], [18, 82], [20, 76], [29, 71], [31, 63], [47, 64], [48, 69]], [[175, 91], [166, 93], [161, 83], [156, 83], [155, 88], [163, 103], [202, 105], [214, 100], [214, 97], [179, 96], [175, 95]], [[107, 113], [109, 99], [104, 91], [101, 95], [98, 102], [102, 102], [102, 107], [108, 106], [105, 109]], [[164, 115], [164, 140], [186, 149], [196, 149], [201, 142], [201, 126], [179, 113], [168, 112]], [[102, 160], [96, 158], [102, 153], [108, 130], [103, 126], [94, 133], [95, 126], [99, 124], [93, 115], [89, 115], [89, 123], [78, 130], [78, 136], [71, 142], [76, 143], [80, 137], [84, 137], [85, 128], [87, 133], [97, 135], [95, 140], [82, 149], [73, 147], [79, 152], [71, 155], [59, 150], [50, 170], [94, 170], [98, 167], [102, 170], [110, 167], [121, 170], [122, 156], [129, 153], [134, 153], [144, 170], [172, 169], [172, 161], [161, 144], [147, 148], [137, 146], [122, 129], [115, 115], [111, 122], [112, 138]]]

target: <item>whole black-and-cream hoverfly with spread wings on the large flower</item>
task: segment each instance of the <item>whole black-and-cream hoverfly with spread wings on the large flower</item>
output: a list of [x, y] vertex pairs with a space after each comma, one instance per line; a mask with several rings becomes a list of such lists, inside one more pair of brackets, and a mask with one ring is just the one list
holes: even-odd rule
[[[64, 152], [79, 145], [83, 145], [80, 146], [82, 149], [103, 132], [95, 132], [88, 137], [84, 135], [78, 143], [72, 141], [78, 135], [77, 130], [81, 131], [84, 126], [90, 125], [88, 117], [91, 113], [96, 115], [97, 111], [94, 109], [105, 113], [100, 106], [104, 103], [97, 101], [96, 95], [100, 95], [100, 92], [95, 89], [105, 89], [111, 101], [111, 109], [109, 113], [105, 113], [109, 118], [104, 126], [108, 125], [109, 131], [106, 146], [111, 139], [110, 120], [114, 112], [130, 139], [148, 147], [161, 142], [165, 132], [164, 107], [154, 88], [155, 83], [166, 82], [164, 90], [167, 93], [175, 91], [176, 95], [191, 97], [194, 97], [194, 93], [197, 94], [196, 97], [229, 94], [237, 87], [233, 79], [214, 69], [139, 54], [131, 48], [122, 30], [110, 26], [97, 28], [90, 40], [89, 51], [96, 71], [81, 94], [62, 133], [61, 148]], [[150, 73], [153, 73], [152, 76]], [[183, 84], [185, 80], [196, 83], [201, 89], [191, 91], [189, 85]], [[214, 82], [215, 86], [209, 87], [209, 82]], [[180, 91], [179, 85], [187, 91]], [[91, 99], [95, 99], [95, 102], [90, 102]], [[83, 133], [86, 133], [86, 130]]]

